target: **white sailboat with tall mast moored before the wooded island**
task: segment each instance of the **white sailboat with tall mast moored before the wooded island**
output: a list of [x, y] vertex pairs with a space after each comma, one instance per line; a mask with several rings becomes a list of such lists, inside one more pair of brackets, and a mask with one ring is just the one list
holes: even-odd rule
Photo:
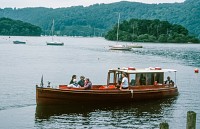
[[118, 41], [119, 41], [119, 20], [120, 20], [120, 13], [119, 13], [119, 16], [118, 16], [118, 26], [117, 26], [117, 44], [110, 46], [111, 47], [110, 50], [130, 51], [131, 47], [118, 44]]

